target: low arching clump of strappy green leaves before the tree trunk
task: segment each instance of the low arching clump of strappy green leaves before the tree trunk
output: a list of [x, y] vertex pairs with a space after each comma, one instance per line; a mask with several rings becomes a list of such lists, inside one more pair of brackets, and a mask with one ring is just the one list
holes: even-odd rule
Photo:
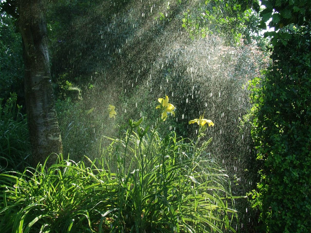
[[58, 164], [0, 174], [2, 232], [87, 232], [117, 199], [111, 174], [60, 156]]

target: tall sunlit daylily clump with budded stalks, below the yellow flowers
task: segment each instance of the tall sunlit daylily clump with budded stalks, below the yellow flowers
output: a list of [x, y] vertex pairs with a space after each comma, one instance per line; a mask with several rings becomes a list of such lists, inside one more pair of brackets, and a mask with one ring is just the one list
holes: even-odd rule
[[163, 139], [156, 131], [148, 135], [141, 121], [130, 121], [103, 152], [114, 161], [119, 184], [112, 231], [234, 231], [230, 222], [237, 217], [232, 207], [238, 197], [231, 195], [224, 170], [203, 156], [211, 139], [197, 148], [175, 132]]

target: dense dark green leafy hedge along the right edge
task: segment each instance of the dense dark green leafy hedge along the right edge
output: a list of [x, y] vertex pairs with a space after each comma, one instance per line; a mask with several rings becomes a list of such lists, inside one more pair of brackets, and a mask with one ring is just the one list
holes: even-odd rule
[[311, 23], [309, 1], [263, 1], [271, 17], [272, 64], [252, 90], [252, 136], [263, 160], [254, 206], [264, 232], [310, 232]]

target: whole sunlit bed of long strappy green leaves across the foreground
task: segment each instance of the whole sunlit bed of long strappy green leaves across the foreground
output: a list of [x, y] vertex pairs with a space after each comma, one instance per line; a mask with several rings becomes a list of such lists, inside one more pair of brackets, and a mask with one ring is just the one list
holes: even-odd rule
[[102, 158], [0, 174], [3, 232], [223, 232], [230, 181], [197, 143], [130, 121]]

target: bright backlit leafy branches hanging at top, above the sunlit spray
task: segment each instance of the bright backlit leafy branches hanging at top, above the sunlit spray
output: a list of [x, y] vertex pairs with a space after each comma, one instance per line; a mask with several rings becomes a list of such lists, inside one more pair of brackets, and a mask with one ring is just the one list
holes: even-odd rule
[[220, 34], [228, 43], [240, 43], [241, 39], [251, 42], [258, 33], [258, 14], [253, 11], [259, 8], [257, 1], [208, 0], [200, 2], [194, 10], [184, 13], [182, 26], [194, 38], [200, 35]]

